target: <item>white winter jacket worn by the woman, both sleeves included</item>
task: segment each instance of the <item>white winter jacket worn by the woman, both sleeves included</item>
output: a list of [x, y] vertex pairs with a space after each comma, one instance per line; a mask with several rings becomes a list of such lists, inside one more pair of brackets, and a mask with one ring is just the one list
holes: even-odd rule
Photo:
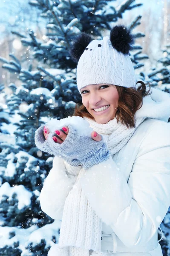
[[[170, 206], [170, 124], [147, 119], [112, 158], [86, 170], [81, 186], [103, 220], [101, 249], [115, 256], [162, 256], [158, 227]], [[41, 208], [62, 219], [82, 167], [54, 157], [40, 193]], [[95, 178], [94, 178], [95, 177]]]

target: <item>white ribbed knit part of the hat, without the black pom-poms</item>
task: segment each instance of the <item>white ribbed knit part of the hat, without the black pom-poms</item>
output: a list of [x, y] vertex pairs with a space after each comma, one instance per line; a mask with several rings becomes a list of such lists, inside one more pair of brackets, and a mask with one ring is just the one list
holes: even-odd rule
[[79, 92], [89, 84], [136, 85], [130, 55], [114, 49], [109, 36], [89, 43], [78, 61], [76, 76]]

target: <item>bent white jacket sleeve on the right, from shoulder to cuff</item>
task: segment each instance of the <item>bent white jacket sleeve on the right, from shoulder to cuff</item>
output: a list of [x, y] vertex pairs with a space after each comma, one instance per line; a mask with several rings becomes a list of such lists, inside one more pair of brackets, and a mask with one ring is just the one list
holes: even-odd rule
[[145, 136], [128, 183], [111, 158], [91, 167], [80, 181], [93, 209], [118, 238], [127, 247], [144, 245], [170, 206], [170, 125], [159, 124]]

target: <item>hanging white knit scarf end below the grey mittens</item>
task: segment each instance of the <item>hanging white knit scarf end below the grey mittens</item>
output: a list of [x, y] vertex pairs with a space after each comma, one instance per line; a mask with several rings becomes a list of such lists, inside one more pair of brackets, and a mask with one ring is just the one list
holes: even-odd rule
[[66, 198], [61, 222], [59, 247], [71, 247], [69, 256], [89, 256], [89, 250], [101, 251], [102, 220], [90, 206], [79, 180], [82, 168]]

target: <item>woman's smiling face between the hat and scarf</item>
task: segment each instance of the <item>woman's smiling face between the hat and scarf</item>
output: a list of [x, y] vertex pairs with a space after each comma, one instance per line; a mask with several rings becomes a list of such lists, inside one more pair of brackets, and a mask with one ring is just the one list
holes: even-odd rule
[[99, 124], [114, 119], [118, 107], [118, 91], [112, 84], [89, 84], [81, 88], [82, 103]]

